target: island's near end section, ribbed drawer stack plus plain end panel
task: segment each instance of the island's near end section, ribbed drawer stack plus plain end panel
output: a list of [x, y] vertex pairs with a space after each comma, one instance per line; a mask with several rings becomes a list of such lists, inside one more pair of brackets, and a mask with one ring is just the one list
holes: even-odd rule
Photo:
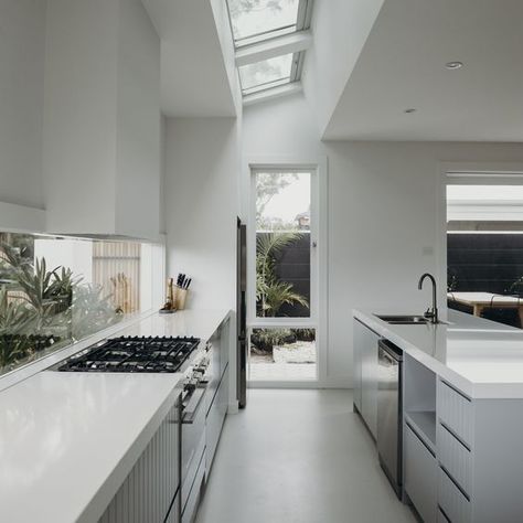
[[523, 401], [437, 386], [438, 505], [451, 523], [522, 521]]

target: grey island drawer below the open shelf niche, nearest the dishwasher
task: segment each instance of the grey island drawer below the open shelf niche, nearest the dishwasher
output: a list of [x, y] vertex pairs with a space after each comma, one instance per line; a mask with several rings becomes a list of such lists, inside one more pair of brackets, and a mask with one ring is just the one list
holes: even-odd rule
[[436, 522], [438, 463], [415, 431], [405, 428], [405, 491], [425, 523]]

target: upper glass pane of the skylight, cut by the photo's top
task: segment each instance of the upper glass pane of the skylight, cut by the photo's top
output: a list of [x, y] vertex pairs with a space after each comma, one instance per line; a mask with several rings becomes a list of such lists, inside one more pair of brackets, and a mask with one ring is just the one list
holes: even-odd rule
[[[296, 31], [299, 0], [228, 0], [234, 40], [246, 45]], [[253, 36], [259, 35], [257, 39]], [[245, 40], [249, 39], [249, 40]]]

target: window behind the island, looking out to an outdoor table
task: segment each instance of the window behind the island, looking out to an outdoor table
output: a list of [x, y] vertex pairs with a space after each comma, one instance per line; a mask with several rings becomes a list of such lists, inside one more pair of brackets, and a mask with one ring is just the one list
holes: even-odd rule
[[448, 306], [523, 328], [522, 178], [447, 180]]

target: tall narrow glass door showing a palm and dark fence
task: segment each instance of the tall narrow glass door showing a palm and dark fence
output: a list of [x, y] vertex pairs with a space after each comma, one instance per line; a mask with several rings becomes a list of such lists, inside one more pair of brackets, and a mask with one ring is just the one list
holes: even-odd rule
[[252, 172], [252, 383], [318, 380], [316, 175], [311, 170]]

